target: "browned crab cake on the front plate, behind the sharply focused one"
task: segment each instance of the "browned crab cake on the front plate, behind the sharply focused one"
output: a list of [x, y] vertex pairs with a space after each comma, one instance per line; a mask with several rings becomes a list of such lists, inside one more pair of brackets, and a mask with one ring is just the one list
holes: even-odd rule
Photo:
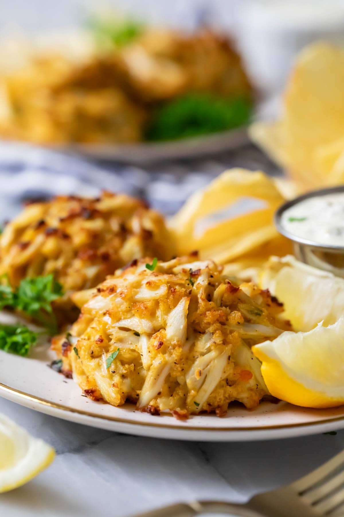
[[74, 291], [96, 286], [135, 258], [171, 256], [169, 242], [162, 216], [134, 197], [57, 196], [27, 205], [6, 225], [0, 275], [18, 286], [24, 278], [53, 273], [65, 293], [55, 307], [63, 309]]

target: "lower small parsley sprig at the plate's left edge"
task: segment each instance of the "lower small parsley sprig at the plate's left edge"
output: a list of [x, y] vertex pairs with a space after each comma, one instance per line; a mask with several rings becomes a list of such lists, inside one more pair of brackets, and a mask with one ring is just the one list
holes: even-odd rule
[[0, 325], [0, 349], [20, 356], [27, 356], [37, 342], [37, 333], [25, 325]]

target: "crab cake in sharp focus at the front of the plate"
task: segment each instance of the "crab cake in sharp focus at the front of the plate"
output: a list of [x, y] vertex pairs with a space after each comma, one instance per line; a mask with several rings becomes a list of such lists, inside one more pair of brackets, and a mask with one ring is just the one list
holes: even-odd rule
[[81, 314], [53, 348], [88, 397], [183, 419], [222, 416], [234, 400], [251, 409], [268, 394], [251, 346], [290, 330], [282, 304], [194, 260], [135, 261], [74, 295]]

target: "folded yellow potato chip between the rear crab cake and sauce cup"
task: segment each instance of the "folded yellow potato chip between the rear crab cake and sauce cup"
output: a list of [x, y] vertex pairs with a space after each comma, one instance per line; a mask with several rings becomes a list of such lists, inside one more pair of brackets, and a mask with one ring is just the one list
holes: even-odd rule
[[283, 202], [275, 181], [263, 172], [225, 171], [195, 192], [170, 221], [176, 254], [199, 250], [202, 259], [225, 264], [243, 256], [255, 263], [257, 257], [263, 262], [271, 253], [288, 253], [289, 241], [273, 224]]

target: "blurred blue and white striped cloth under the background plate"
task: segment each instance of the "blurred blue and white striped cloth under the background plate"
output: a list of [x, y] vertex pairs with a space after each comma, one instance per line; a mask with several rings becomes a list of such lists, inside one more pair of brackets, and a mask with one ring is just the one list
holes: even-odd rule
[[263, 169], [274, 174], [271, 162], [253, 146], [221, 156], [134, 165], [92, 162], [22, 143], [0, 143], [0, 221], [11, 219], [28, 199], [55, 194], [97, 195], [101, 189], [146, 199], [166, 215], [174, 214], [187, 197], [231, 167]]

